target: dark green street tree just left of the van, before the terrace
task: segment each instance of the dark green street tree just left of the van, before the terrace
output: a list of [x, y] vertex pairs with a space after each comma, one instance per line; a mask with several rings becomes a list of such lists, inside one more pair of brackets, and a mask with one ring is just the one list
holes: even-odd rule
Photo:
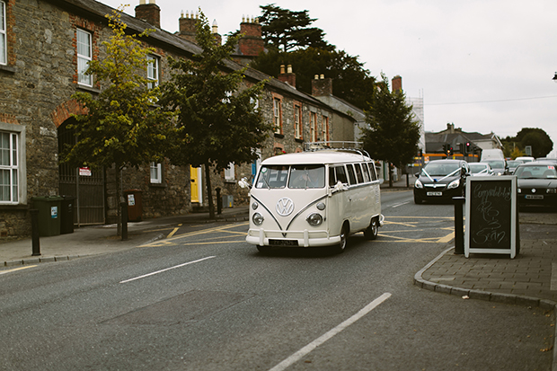
[[205, 14], [200, 12], [196, 40], [203, 51], [188, 60], [170, 58], [171, 80], [162, 87], [161, 103], [179, 110], [181, 131], [175, 137], [171, 162], [205, 167], [211, 218], [215, 216], [211, 166], [220, 172], [230, 163], [252, 162], [257, 158], [256, 148], [272, 129], [255, 110], [265, 82], [240, 88], [245, 68], [227, 71], [225, 67], [238, 37], [217, 44]]

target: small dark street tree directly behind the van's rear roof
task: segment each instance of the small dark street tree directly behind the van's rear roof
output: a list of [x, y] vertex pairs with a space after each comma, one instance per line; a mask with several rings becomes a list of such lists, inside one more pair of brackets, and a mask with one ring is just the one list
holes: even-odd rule
[[406, 105], [402, 91], [390, 92], [389, 82], [381, 74], [382, 82], [376, 84], [363, 129], [364, 149], [376, 160], [389, 165], [389, 187], [393, 187], [391, 165], [411, 163], [418, 151], [420, 125], [413, 119], [412, 107]]

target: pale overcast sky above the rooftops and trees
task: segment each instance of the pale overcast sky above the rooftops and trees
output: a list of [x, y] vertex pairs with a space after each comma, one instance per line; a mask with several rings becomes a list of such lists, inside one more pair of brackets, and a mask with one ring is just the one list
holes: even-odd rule
[[[132, 15], [139, 4], [101, 2], [130, 4], [125, 12]], [[557, 156], [557, 1], [156, 0], [164, 30], [178, 31], [181, 11], [200, 7], [221, 35], [239, 30], [244, 15], [258, 16], [260, 5], [271, 3], [308, 10], [325, 40], [358, 56], [371, 75], [401, 75], [406, 95], [424, 100], [426, 131], [450, 122], [504, 138], [542, 128]]]

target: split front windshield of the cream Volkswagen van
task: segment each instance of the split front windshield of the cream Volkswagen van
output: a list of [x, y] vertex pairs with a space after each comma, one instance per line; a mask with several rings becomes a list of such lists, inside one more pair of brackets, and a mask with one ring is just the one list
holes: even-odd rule
[[[290, 175], [288, 177], [288, 174]], [[255, 188], [282, 189], [323, 188], [324, 165], [270, 165], [262, 166]]]

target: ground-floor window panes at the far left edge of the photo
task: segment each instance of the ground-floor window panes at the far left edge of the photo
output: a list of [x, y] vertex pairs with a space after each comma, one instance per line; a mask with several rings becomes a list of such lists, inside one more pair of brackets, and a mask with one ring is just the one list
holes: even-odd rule
[[0, 203], [19, 202], [18, 135], [0, 131]]

